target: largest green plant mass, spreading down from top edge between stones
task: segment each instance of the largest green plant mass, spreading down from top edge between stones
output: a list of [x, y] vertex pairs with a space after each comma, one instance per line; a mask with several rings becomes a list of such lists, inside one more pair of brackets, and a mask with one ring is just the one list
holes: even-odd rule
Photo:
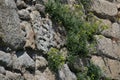
[[99, 22], [87, 22], [81, 5], [70, 7], [61, 4], [59, 0], [49, 0], [46, 12], [53, 21], [62, 24], [67, 31], [67, 49], [72, 55], [86, 56], [88, 54], [87, 42], [94, 39]]

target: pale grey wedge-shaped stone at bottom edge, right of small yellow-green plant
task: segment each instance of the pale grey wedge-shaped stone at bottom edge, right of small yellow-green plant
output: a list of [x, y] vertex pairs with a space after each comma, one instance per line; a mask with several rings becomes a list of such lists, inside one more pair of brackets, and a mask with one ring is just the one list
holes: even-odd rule
[[75, 74], [70, 71], [67, 64], [64, 64], [61, 70], [59, 70], [59, 79], [60, 80], [77, 80]]

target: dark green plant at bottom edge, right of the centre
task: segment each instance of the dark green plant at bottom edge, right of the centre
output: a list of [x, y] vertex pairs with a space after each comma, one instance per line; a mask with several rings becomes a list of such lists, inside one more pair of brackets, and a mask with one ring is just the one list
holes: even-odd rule
[[101, 69], [93, 63], [90, 63], [84, 72], [77, 73], [77, 80], [100, 80], [101, 77]]

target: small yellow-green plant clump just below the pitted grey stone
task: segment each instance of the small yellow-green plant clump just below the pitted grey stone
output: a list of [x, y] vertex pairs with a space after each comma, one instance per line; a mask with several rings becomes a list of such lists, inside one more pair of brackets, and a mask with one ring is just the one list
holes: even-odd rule
[[64, 64], [65, 58], [56, 48], [51, 48], [48, 52], [48, 64], [52, 71], [57, 71]]

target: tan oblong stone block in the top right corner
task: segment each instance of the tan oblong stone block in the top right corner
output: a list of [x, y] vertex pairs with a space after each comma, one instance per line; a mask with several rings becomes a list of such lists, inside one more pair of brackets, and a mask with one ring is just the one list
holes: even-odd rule
[[101, 15], [115, 16], [117, 15], [117, 6], [106, 0], [93, 0], [92, 10]]

